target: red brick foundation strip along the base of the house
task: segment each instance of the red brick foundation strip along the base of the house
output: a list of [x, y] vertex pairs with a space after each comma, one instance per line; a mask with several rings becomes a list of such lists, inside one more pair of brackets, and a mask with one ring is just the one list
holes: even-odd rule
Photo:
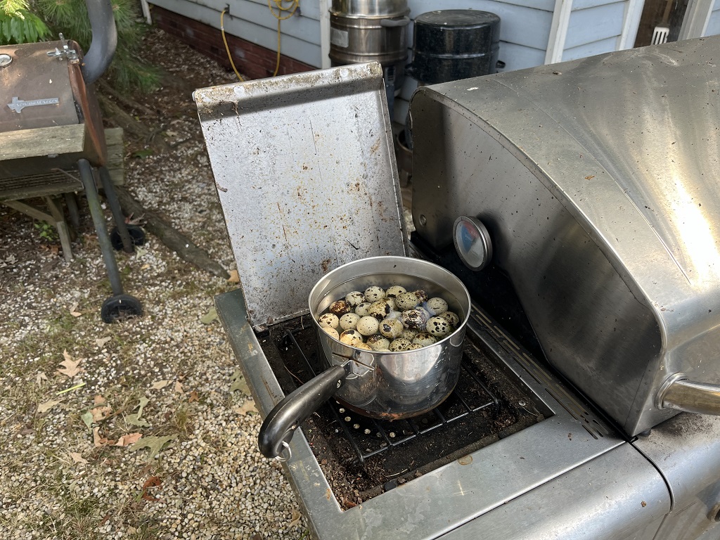
[[[150, 13], [153, 16], [153, 22], [158, 28], [178, 37], [199, 53], [217, 60], [226, 69], [232, 69], [230, 60], [228, 60], [228, 53], [225, 52], [225, 44], [222, 42], [220, 30], [159, 6], [153, 5]], [[218, 16], [219, 18], [220, 16]], [[276, 51], [266, 49], [240, 37], [235, 37], [228, 34], [228, 32], [225, 32], [225, 38], [228, 40], [228, 47], [233, 55], [235, 67], [243, 76], [249, 78], [272, 76], [277, 61]], [[288, 73], [300, 73], [301, 71], [312, 71], [314, 69], [316, 68], [308, 66], [306, 63], [280, 55], [280, 68], [277, 74], [287, 75]]]

